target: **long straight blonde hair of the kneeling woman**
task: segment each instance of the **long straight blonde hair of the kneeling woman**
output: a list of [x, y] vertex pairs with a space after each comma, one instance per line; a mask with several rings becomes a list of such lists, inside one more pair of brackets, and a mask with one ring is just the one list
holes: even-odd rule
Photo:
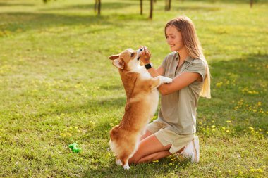
[[171, 25], [173, 27], [176, 27], [176, 29], [181, 32], [181, 36], [183, 37], [183, 43], [187, 49], [188, 55], [192, 58], [198, 58], [206, 63], [207, 76], [205, 77], [200, 96], [211, 98], [209, 65], [207, 64], [207, 60], [205, 59], [205, 56], [202, 52], [202, 46], [195, 32], [195, 25], [193, 24], [192, 20], [190, 20], [190, 18], [181, 15], [178, 18], [170, 20], [168, 23], [166, 23], [165, 34], [166, 28]]

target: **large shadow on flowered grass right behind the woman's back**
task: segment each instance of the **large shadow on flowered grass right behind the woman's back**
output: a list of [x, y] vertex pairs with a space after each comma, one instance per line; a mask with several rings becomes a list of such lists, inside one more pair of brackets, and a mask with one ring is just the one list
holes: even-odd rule
[[212, 98], [200, 98], [197, 122], [226, 127], [227, 120], [231, 120], [234, 135], [244, 134], [243, 130], [248, 127], [268, 129], [265, 101], [268, 97], [265, 87], [268, 85], [268, 54], [212, 61], [210, 65]]

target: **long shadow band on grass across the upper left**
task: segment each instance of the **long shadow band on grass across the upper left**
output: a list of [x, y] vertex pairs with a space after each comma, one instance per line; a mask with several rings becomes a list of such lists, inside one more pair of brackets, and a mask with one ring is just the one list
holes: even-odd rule
[[[138, 14], [109, 14], [109, 15], [60, 15], [54, 13], [0, 13], [3, 25], [0, 31], [26, 32], [28, 30], [44, 30], [49, 27], [73, 25], [106, 25], [123, 27], [125, 20], [147, 20], [147, 17]], [[96, 28], [96, 27], [95, 27]], [[93, 32], [99, 32], [93, 30]]]

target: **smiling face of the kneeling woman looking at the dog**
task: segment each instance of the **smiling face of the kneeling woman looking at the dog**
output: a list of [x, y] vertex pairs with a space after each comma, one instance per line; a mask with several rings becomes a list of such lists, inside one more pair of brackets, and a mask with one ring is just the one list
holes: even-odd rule
[[169, 25], [166, 27], [166, 42], [170, 46], [171, 51], [180, 51], [184, 47], [183, 37], [176, 27]]

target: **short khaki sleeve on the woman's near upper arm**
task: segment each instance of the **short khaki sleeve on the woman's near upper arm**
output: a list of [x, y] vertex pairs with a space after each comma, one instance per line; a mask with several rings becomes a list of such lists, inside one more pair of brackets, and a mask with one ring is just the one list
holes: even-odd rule
[[188, 68], [185, 68], [183, 72], [195, 72], [202, 76], [202, 81], [204, 82], [207, 75], [207, 65], [201, 59], [195, 59]]

